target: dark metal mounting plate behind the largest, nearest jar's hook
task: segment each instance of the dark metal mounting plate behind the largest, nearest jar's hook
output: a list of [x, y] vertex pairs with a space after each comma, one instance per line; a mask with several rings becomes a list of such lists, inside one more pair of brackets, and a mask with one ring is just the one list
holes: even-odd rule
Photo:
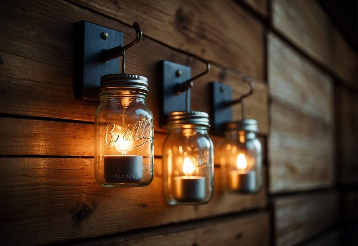
[[[101, 34], [108, 33], [103, 39]], [[123, 33], [84, 20], [75, 24], [75, 86], [76, 99], [98, 101], [101, 77], [119, 72], [120, 58], [107, 63], [100, 60], [102, 49], [123, 45]]]

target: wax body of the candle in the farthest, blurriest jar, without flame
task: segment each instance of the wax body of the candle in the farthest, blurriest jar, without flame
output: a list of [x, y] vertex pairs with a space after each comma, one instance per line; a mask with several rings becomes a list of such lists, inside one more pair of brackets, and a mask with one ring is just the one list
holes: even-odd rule
[[229, 171], [229, 189], [239, 192], [255, 192], [256, 171]]

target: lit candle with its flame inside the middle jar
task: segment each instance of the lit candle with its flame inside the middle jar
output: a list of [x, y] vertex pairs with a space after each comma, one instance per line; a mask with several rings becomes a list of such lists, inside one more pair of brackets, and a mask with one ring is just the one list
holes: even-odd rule
[[192, 160], [185, 157], [183, 171], [188, 176], [174, 177], [174, 199], [179, 202], [198, 202], [206, 196], [205, 177], [189, 176], [194, 171]]

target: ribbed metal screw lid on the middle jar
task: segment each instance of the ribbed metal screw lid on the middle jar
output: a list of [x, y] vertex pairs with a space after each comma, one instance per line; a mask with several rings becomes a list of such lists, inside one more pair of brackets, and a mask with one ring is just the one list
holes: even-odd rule
[[200, 111], [175, 111], [170, 112], [166, 118], [166, 126], [181, 126], [193, 124], [195, 126], [210, 127], [209, 115]]

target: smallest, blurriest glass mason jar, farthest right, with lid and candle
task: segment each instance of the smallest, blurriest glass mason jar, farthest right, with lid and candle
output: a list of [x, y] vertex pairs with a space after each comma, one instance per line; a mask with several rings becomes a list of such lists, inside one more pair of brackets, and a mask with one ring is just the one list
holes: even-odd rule
[[244, 119], [225, 124], [220, 148], [221, 181], [225, 190], [258, 193], [262, 188], [262, 145], [257, 121]]

